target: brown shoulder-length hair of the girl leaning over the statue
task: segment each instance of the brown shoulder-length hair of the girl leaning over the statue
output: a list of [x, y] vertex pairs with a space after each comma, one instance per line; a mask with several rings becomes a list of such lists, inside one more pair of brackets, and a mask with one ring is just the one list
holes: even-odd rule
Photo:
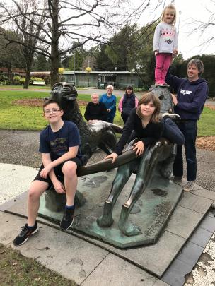
[[153, 105], [156, 107], [153, 114], [151, 115], [151, 120], [154, 123], [158, 123], [161, 121], [160, 117], [160, 110], [161, 110], [161, 102], [157, 95], [154, 93], [146, 93], [144, 94], [141, 99], [138, 102], [138, 106], [136, 107], [136, 114], [139, 116], [139, 118], [144, 119], [143, 114], [141, 113], [141, 105], [147, 105], [149, 102], [153, 102]]

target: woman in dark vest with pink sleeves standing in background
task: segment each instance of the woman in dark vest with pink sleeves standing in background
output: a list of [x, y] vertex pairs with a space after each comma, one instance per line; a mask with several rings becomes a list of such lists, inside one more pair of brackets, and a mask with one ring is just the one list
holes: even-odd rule
[[133, 87], [132, 85], [128, 85], [125, 90], [125, 94], [120, 99], [119, 107], [118, 107], [124, 124], [126, 123], [131, 110], [134, 107], [137, 107], [137, 105], [138, 105], [138, 99], [136, 95], [134, 94]]

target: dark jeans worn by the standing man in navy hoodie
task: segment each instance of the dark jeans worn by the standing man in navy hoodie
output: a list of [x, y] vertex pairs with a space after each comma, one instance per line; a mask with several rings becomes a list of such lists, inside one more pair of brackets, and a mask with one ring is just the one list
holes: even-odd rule
[[[180, 131], [185, 136], [185, 156], [187, 162], [187, 181], [197, 178], [196, 138], [197, 121], [187, 120], [178, 124]], [[173, 174], [177, 177], [183, 175], [182, 146], [177, 146], [177, 154], [173, 165]]]

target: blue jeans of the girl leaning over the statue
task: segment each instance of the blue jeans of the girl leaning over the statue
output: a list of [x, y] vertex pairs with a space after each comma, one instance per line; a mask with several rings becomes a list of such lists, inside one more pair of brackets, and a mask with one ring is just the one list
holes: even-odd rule
[[173, 120], [167, 118], [163, 120], [164, 130], [163, 137], [168, 139], [170, 142], [175, 143], [177, 145], [185, 144], [185, 136], [182, 131], [178, 128]]

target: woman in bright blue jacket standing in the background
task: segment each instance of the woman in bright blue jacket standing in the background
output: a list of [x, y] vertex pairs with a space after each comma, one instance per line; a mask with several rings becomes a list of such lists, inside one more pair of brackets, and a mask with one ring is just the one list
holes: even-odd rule
[[107, 86], [107, 93], [100, 97], [100, 102], [103, 102], [108, 109], [108, 118], [107, 121], [113, 123], [113, 119], [116, 115], [116, 104], [117, 104], [117, 97], [112, 94], [113, 86]]

